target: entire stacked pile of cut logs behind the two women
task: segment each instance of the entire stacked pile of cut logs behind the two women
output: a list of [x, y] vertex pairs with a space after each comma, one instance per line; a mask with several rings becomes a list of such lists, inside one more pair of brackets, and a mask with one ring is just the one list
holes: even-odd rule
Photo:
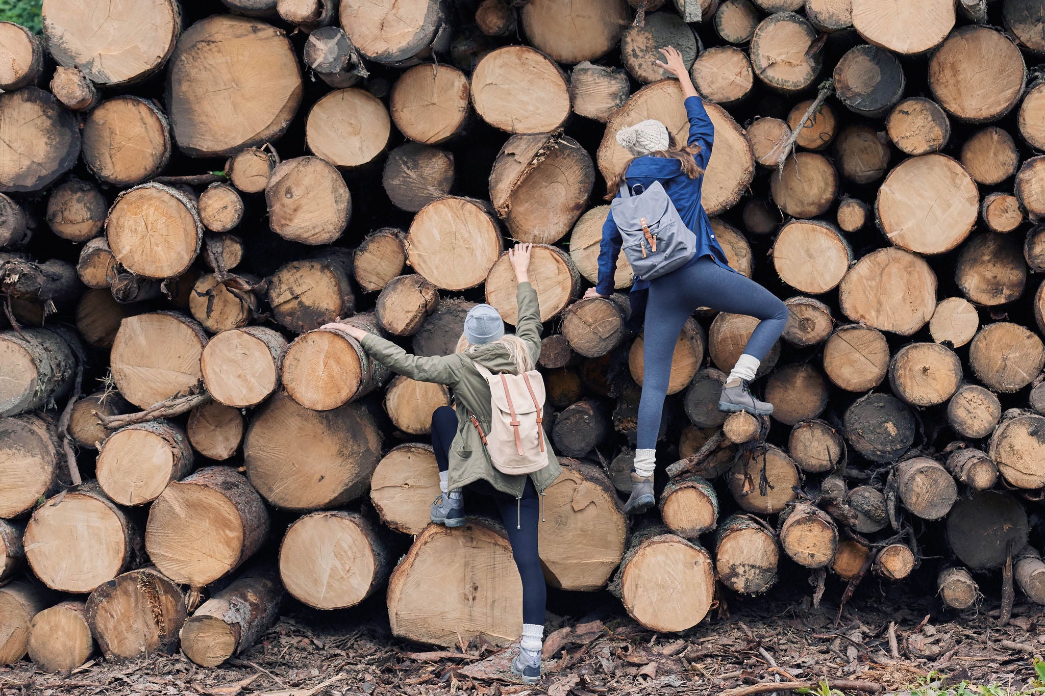
[[[399, 637], [515, 640], [504, 530], [427, 524], [448, 390], [320, 328], [450, 353], [477, 303], [515, 321], [514, 241], [538, 245], [566, 463], [551, 585], [608, 585], [663, 631], [717, 583], [796, 569], [816, 601], [870, 576], [958, 609], [1045, 601], [1040, 3], [107, 4], [46, 0], [43, 35], [0, 23], [0, 662], [216, 665], [284, 594], [385, 593]], [[659, 508], [630, 521], [623, 256], [620, 294], [580, 297], [616, 130], [684, 139], [665, 45], [715, 124], [716, 237], [791, 321], [762, 363], [771, 418], [716, 408], [756, 320], [687, 322]]]

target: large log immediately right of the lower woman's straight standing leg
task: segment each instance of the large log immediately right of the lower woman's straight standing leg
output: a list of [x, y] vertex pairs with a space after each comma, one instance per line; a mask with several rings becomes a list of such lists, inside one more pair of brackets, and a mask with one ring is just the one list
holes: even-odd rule
[[[613, 484], [594, 464], [566, 461], [544, 489], [537, 531], [544, 578], [553, 587], [601, 590], [627, 548], [628, 520]], [[591, 534], [599, 529], [598, 534]]]

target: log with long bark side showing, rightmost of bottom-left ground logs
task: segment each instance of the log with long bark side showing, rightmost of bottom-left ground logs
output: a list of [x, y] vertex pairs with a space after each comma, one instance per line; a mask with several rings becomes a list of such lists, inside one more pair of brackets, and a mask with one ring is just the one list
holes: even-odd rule
[[217, 667], [269, 630], [282, 598], [274, 569], [243, 573], [185, 621], [178, 633], [182, 652], [201, 667]]

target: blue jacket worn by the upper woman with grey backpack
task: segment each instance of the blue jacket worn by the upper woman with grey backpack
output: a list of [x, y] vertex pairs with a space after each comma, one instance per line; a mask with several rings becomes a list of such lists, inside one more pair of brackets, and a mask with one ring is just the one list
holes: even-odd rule
[[[707, 161], [712, 157], [712, 143], [715, 140], [715, 126], [707, 117], [700, 97], [689, 97], [686, 100], [686, 115], [690, 118], [689, 145], [700, 145], [700, 151], [694, 159], [701, 169], [707, 168]], [[660, 182], [668, 192], [668, 197], [678, 210], [682, 222], [697, 236], [697, 250], [693, 255], [693, 260], [686, 267], [696, 262], [703, 256], [710, 256], [715, 263], [723, 268], [729, 268], [725, 253], [715, 239], [712, 232], [711, 220], [707, 213], [700, 203], [700, 190], [704, 183], [703, 176], [690, 178], [682, 173], [681, 164], [678, 160], [667, 158], [642, 157], [635, 158], [625, 174], [628, 186], [642, 184], [649, 186], [653, 182]], [[618, 193], [618, 196], [621, 194]], [[613, 293], [613, 269], [617, 266], [617, 257], [621, 253], [621, 233], [613, 223], [613, 214], [606, 215], [606, 222], [602, 225], [602, 243], [599, 251], [599, 284], [596, 289], [599, 294], [609, 295]], [[730, 269], [732, 270], [732, 269]], [[649, 281], [637, 280], [631, 286], [631, 291], [645, 290], [650, 286]]]

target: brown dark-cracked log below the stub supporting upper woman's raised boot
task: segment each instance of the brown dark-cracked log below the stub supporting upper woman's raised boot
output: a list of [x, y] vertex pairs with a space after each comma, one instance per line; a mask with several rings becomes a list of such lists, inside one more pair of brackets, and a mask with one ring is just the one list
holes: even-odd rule
[[772, 445], [756, 448], [729, 471], [729, 493], [748, 512], [773, 514], [795, 499], [798, 469], [783, 450]]

